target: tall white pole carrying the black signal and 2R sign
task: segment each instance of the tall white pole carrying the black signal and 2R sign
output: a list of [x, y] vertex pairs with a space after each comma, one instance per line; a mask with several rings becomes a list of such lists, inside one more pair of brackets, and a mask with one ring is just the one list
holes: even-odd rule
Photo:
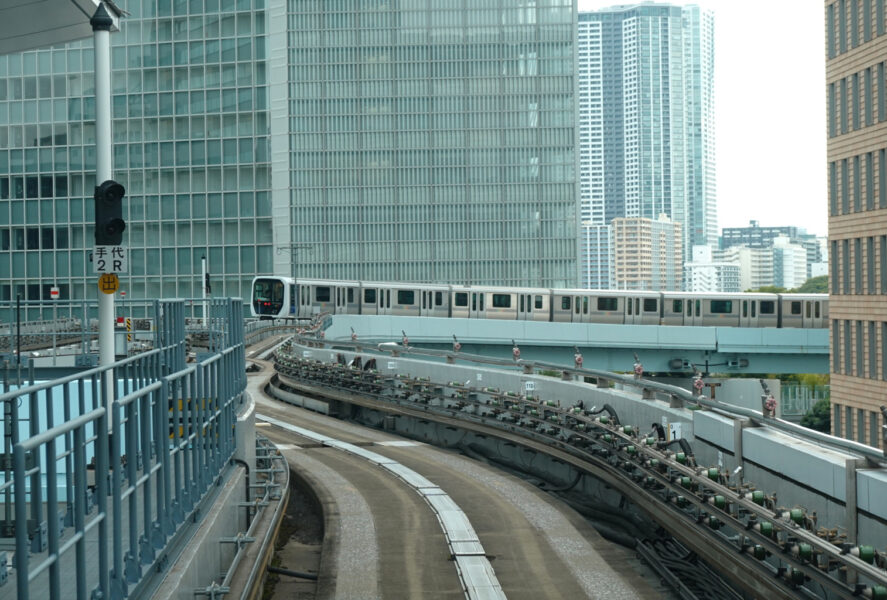
[[[89, 20], [95, 45], [95, 177], [96, 185], [112, 178], [111, 173], [111, 27], [114, 20], [104, 3]], [[99, 294], [99, 366], [114, 362], [114, 294]], [[114, 374], [105, 372], [105, 398], [113, 395]]]

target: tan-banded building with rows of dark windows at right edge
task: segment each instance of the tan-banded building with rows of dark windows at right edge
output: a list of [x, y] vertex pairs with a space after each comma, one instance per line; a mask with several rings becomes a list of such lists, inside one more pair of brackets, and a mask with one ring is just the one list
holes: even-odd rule
[[887, 396], [884, 2], [827, 0], [832, 433], [883, 447]]

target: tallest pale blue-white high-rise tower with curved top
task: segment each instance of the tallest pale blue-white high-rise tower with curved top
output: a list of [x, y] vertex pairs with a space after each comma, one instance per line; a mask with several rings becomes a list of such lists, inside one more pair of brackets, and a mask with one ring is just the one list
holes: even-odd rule
[[582, 224], [666, 214], [682, 226], [687, 252], [714, 244], [711, 13], [638, 4], [578, 21]]

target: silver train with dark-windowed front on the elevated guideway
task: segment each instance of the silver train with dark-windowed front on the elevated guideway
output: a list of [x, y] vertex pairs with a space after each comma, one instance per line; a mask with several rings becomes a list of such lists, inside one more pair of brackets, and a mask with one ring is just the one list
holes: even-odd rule
[[294, 279], [259, 275], [259, 319], [318, 314], [699, 327], [828, 327], [828, 294], [588, 290]]

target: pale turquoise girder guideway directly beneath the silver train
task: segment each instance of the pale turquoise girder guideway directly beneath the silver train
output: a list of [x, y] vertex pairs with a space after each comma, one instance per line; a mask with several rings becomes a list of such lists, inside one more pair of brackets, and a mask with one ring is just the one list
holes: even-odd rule
[[493, 319], [444, 319], [332, 315], [323, 323], [327, 341], [401, 342], [451, 349], [454, 337], [466, 353], [512, 356], [516, 343], [528, 360], [570, 364], [574, 348], [585, 365], [632, 370], [637, 354], [648, 373], [828, 373], [828, 329], [684, 327], [549, 323]]

